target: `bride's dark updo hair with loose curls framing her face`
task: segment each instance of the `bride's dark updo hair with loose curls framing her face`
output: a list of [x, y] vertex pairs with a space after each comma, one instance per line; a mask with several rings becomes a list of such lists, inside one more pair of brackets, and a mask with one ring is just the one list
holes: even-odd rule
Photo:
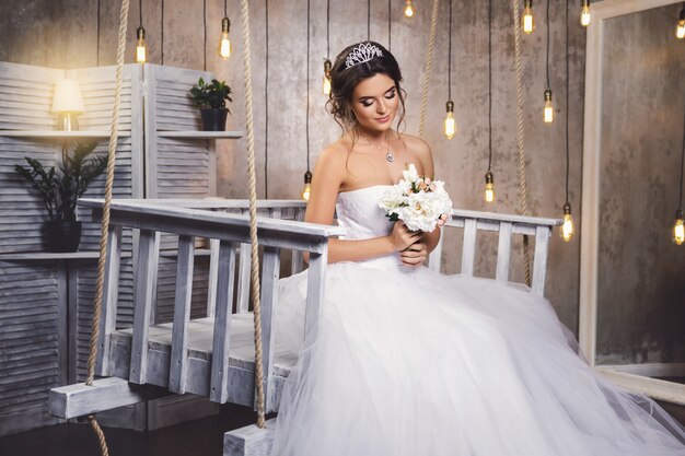
[[[375, 56], [369, 61], [357, 63], [350, 68], [346, 67], [346, 60], [349, 54], [356, 47], [360, 45], [372, 45], [378, 47], [383, 56]], [[404, 121], [405, 117], [405, 92], [399, 86], [402, 81], [402, 71], [395, 57], [385, 47], [375, 42], [361, 42], [346, 47], [338, 57], [335, 59], [335, 63], [330, 69], [330, 100], [326, 104], [328, 112], [333, 114], [333, 117], [338, 122], [342, 131], [355, 131], [357, 125], [357, 118], [350, 106], [352, 101], [352, 92], [357, 84], [364, 79], [374, 77], [375, 74], [385, 74], [395, 82], [397, 87], [397, 94], [399, 95], [399, 119], [397, 126]]]

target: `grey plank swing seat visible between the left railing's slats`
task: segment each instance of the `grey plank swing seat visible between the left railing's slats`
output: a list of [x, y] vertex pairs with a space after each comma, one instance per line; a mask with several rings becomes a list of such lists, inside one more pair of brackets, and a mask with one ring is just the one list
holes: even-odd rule
[[[229, 401], [251, 406], [254, 400], [254, 327], [253, 314], [234, 314], [231, 318], [231, 343], [229, 361]], [[212, 353], [212, 317], [190, 320], [188, 327], [188, 379], [186, 393], [209, 395], [210, 364]], [[132, 329], [118, 330], [112, 335], [114, 374], [128, 378]], [[167, 387], [171, 359], [172, 324], [151, 326], [149, 329], [148, 382]], [[298, 359], [276, 344], [274, 353], [275, 397]]]

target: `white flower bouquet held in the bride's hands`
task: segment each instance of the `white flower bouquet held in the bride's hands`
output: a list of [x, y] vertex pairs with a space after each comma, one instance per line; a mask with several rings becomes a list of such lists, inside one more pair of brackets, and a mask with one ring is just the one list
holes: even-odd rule
[[379, 202], [391, 221], [402, 220], [411, 231], [431, 232], [452, 214], [452, 201], [442, 180], [420, 177], [414, 165], [402, 172], [403, 178]]

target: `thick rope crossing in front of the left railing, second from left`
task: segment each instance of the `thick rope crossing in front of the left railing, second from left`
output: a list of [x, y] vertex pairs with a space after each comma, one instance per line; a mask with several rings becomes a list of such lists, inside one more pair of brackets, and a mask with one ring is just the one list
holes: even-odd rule
[[252, 242], [252, 301], [255, 319], [255, 388], [257, 394], [257, 425], [264, 428], [264, 366], [262, 365], [262, 302], [259, 300], [259, 245], [257, 244], [257, 179], [255, 177], [255, 131], [252, 112], [252, 57], [249, 48], [249, 8], [247, 0], [241, 0], [243, 16], [243, 65], [245, 68], [245, 124], [247, 132], [247, 175], [249, 187], [249, 238]]

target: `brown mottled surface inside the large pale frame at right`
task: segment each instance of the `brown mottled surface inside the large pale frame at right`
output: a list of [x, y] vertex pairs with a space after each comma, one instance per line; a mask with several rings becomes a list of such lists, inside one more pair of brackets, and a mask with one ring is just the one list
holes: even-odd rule
[[684, 133], [681, 8], [606, 22], [597, 347], [614, 354], [607, 362], [685, 360], [685, 248], [671, 242]]

